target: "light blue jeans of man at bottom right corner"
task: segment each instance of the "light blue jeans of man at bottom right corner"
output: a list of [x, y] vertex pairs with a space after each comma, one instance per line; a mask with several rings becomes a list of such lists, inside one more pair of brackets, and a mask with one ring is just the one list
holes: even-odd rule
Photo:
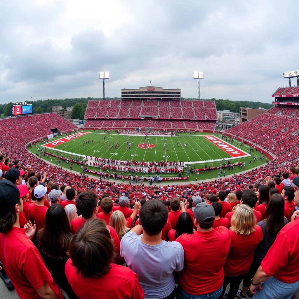
[[271, 276], [263, 283], [263, 289], [258, 290], [254, 299], [290, 299], [299, 290], [299, 281], [284, 283]]

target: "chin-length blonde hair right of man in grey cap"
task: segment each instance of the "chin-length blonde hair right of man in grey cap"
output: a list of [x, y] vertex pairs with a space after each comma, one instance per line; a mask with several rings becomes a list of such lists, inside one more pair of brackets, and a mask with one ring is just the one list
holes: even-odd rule
[[248, 205], [238, 205], [231, 217], [231, 230], [236, 234], [248, 236], [255, 231], [257, 219]]

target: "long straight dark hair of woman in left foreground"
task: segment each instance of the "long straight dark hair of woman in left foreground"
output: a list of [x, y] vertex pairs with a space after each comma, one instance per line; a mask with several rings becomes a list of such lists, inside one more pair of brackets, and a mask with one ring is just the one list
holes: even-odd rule
[[73, 233], [62, 205], [51, 205], [45, 218], [45, 227], [37, 235], [39, 247], [48, 257], [68, 258], [68, 246]]

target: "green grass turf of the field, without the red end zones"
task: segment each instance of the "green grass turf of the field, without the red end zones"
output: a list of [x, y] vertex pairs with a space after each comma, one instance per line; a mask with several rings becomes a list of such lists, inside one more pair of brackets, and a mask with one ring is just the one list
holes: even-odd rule
[[[209, 140], [205, 139], [202, 135], [211, 135], [208, 133], [199, 133], [197, 134], [190, 134], [190, 133], [182, 133], [179, 136], [175, 137], [163, 137], [163, 136], [149, 136], [146, 140], [146, 142], [154, 144], [155, 147], [153, 148], [147, 148], [143, 149], [140, 147], [137, 147], [137, 144], [143, 143], [145, 140], [144, 135], [131, 135], [131, 136], [125, 136], [125, 135], [118, 135], [115, 132], [111, 132], [110, 134], [98, 134], [97, 130], [94, 132], [93, 130], [84, 130], [84, 132], [89, 132], [89, 134], [80, 136], [76, 139], [70, 140], [65, 142], [64, 144], [59, 144], [53, 149], [46, 149], [47, 152], [51, 152], [52, 154], [56, 153], [56, 149], [58, 151], [66, 151], [71, 152], [77, 155], [81, 155], [81, 159], [83, 159], [86, 155], [87, 156], [97, 156], [97, 157], [106, 157], [106, 158], [113, 158], [118, 160], [136, 160], [136, 161], [184, 161], [184, 162], [193, 162], [197, 161], [196, 163], [193, 163], [191, 166], [195, 165], [195, 168], [203, 168], [205, 164], [213, 165], [214, 167], [217, 167], [221, 164], [221, 161], [214, 161], [214, 162], [201, 162], [201, 161], [207, 161], [207, 160], [215, 160], [215, 159], [221, 159], [225, 158], [226, 161], [230, 160], [231, 163], [235, 162], [245, 162], [246, 164], [246, 170], [257, 167], [261, 164], [263, 164], [266, 161], [266, 158], [262, 162], [259, 157], [260, 153], [255, 151], [252, 153], [251, 156], [245, 157], [245, 158], [231, 158], [228, 153], [226, 153], [224, 150], [217, 147], [215, 144], [210, 142]], [[103, 132], [103, 131], [100, 131]], [[103, 136], [106, 137], [106, 139], [103, 139]], [[221, 138], [221, 135], [218, 136], [218, 138]], [[87, 140], [93, 140], [94, 143], [85, 144], [85, 146], [82, 146], [83, 141]], [[54, 138], [53, 140], [56, 140]], [[132, 146], [130, 150], [126, 150], [127, 144], [125, 144], [125, 141], [131, 140]], [[52, 140], [51, 140], [52, 141]], [[99, 143], [100, 141], [100, 143]], [[104, 145], [104, 141], [107, 142], [106, 145]], [[109, 144], [112, 145], [112, 141], [114, 141], [114, 145], [119, 142], [120, 147], [117, 149], [109, 149]], [[187, 148], [184, 147], [184, 143], [187, 142]], [[164, 145], [166, 143], [166, 145]], [[177, 146], [177, 143], [179, 143], [179, 147]], [[239, 147], [236, 142], [234, 142], [234, 146], [237, 148], [242, 149], [245, 152], [249, 153], [249, 147], [245, 145], [245, 147]], [[166, 152], [166, 147], [168, 148], [168, 152]], [[29, 148], [29, 150], [33, 153], [37, 152], [37, 148]], [[61, 152], [60, 152], [61, 155]], [[253, 162], [253, 157], [257, 156], [257, 162]], [[70, 154], [63, 153], [63, 156], [66, 158], [70, 157]], [[76, 155], [74, 155], [75, 157]], [[46, 158], [45, 156], [42, 156], [43, 159], [51, 161], [53, 163], [57, 164], [56, 158], [49, 156]], [[249, 167], [249, 161], [251, 160], [251, 167]], [[66, 162], [62, 162], [61, 166], [69, 168], [70, 164], [66, 164]], [[75, 171], [81, 172], [82, 169], [79, 165], [73, 164], [73, 169]], [[90, 167], [90, 170], [99, 170], [98, 168]], [[228, 171], [226, 169], [226, 174], [233, 174], [238, 173], [241, 170], [238, 167], [235, 167], [234, 170]], [[118, 174], [120, 172], [117, 171]], [[186, 174], [186, 173], [185, 173]], [[141, 176], [141, 174], [140, 174]], [[164, 177], [174, 177], [176, 174], [164, 174]], [[196, 178], [198, 180], [203, 179], [212, 179], [218, 176], [218, 170], [214, 170], [211, 172], [208, 172], [206, 174], [200, 173], [199, 175], [196, 175], [195, 173], [189, 176], [189, 181], [194, 181]], [[223, 176], [223, 174], [222, 174]], [[185, 181], [186, 182], [186, 181]]]

